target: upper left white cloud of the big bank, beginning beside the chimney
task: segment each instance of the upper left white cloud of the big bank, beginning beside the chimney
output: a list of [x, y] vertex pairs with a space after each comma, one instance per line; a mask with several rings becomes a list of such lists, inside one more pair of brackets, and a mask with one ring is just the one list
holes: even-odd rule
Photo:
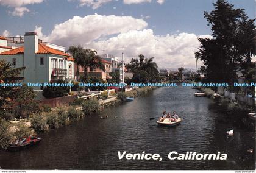
[[44, 40], [69, 44], [87, 44], [96, 39], [108, 35], [119, 34], [129, 30], [141, 30], [148, 24], [143, 19], [135, 19], [131, 16], [103, 16], [88, 15], [84, 18], [74, 16], [64, 23], [56, 24], [51, 34], [43, 36], [41, 28], [37, 27], [38, 35]]

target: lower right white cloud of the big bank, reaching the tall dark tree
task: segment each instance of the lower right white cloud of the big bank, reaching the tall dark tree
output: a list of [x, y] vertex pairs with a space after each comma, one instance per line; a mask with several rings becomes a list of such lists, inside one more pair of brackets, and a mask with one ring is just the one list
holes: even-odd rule
[[180, 66], [194, 68], [194, 52], [199, 45], [195, 34], [180, 33], [161, 36], [154, 35], [151, 29], [144, 29], [131, 30], [108, 40], [93, 41], [85, 46], [97, 50], [104, 48], [108, 54], [113, 55], [120, 55], [124, 50], [129, 60], [139, 54], [155, 57], [158, 66], [162, 68], [179, 68]]

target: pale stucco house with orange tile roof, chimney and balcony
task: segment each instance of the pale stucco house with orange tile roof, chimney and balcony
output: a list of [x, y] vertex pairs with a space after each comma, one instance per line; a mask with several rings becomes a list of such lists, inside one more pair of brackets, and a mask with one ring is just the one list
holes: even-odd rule
[[26, 67], [21, 74], [24, 83], [74, 78], [74, 58], [65, 53], [64, 47], [39, 40], [36, 32], [26, 32], [20, 41], [12, 38], [0, 37], [0, 60], [13, 63], [15, 68]]

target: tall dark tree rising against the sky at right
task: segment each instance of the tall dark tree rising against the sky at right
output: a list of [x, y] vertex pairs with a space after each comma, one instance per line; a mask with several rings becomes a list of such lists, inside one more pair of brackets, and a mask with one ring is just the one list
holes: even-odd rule
[[248, 19], [244, 9], [234, 9], [234, 5], [225, 0], [213, 5], [212, 12], [204, 12], [213, 38], [199, 38], [201, 46], [196, 58], [204, 62], [208, 82], [233, 83], [237, 80], [237, 71], [245, 74], [252, 66], [255, 19]]

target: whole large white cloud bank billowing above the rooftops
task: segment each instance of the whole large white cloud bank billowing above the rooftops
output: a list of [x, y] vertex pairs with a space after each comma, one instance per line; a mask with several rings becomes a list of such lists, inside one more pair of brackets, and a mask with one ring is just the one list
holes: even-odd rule
[[67, 48], [81, 44], [96, 49], [99, 54], [102, 50], [115, 56], [124, 52], [127, 62], [138, 54], [155, 57], [155, 62], [162, 68], [194, 68], [194, 52], [200, 45], [197, 37], [210, 37], [188, 33], [155, 35], [152, 29], [146, 29], [147, 26], [143, 19], [131, 16], [88, 15], [84, 18], [74, 16], [55, 25], [49, 35], [43, 35], [42, 27], [36, 27], [35, 31], [44, 41]]

